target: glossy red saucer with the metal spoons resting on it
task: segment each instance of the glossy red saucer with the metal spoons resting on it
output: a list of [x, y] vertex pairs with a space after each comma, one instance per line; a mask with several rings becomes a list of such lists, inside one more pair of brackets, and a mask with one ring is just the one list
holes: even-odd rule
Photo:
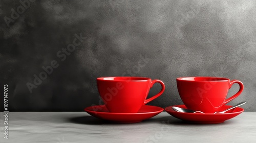
[[[185, 105], [175, 105], [176, 107], [185, 108]], [[217, 113], [182, 113], [177, 112], [172, 109], [173, 106], [169, 106], [165, 108], [165, 111], [168, 112], [170, 115], [179, 118], [180, 120], [191, 122], [191, 123], [197, 123], [197, 124], [216, 124], [216, 123], [223, 123], [226, 120], [229, 120], [230, 118], [233, 118], [239, 114], [241, 114], [244, 109], [237, 107], [233, 110], [227, 111], [223, 114]], [[224, 111], [225, 109], [229, 108], [231, 106], [224, 105], [220, 111]]]

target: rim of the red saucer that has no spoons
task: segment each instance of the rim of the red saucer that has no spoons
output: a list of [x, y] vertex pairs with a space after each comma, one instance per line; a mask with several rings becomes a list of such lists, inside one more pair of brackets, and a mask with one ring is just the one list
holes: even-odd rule
[[[105, 105], [94, 105], [94, 106], [105, 106]], [[104, 114], [115, 114], [115, 115], [134, 115], [134, 114], [151, 114], [151, 113], [161, 113], [164, 111], [164, 108], [161, 108], [161, 107], [158, 107], [158, 106], [152, 106], [152, 105], [143, 105], [142, 107], [144, 106], [151, 106], [151, 107], [155, 107], [155, 108], [159, 108], [158, 111], [154, 111], [154, 112], [136, 112], [136, 113], [120, 113], [120, 112], [100, 112], [100, 111], [93, 111], [93, 110], [88, 110], [88, 108], [91, 108], [91, 107], [94, 107], [94, 106], [89, 106], [89, 107], [86, 107], [84, 108], [83, 110], [86, 111], [86, 112], [97, 112], [97, 113], [104, 113]], [[141, 108], [142, 108], [141, 107]], [[101, 107], [102, 108], [102, 107]], [[106, 107], [105, 107], [106, 108]]]

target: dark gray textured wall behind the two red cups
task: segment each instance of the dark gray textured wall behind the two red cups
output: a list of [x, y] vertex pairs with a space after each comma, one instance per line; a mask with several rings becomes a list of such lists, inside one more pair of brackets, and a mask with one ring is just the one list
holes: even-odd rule
[[256, 1], [26, 2], [0, 5], [1, 109], [8, 84], [9, 111], [82, 111], [99, 102], [97, 77], [130, 73], [165, 83], [160, 107], [182, 104], [178, 77], [238, 79], [230, 105], [256, 111]]

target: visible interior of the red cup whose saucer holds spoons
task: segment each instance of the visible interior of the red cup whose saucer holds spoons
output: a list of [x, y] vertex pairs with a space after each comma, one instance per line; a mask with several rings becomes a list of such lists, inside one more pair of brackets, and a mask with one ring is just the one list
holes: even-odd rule
[[227, 81], [227, 78], [219, 78], [219, 77], [182, 77], [177, 78], [177, 80], [181, 81]]

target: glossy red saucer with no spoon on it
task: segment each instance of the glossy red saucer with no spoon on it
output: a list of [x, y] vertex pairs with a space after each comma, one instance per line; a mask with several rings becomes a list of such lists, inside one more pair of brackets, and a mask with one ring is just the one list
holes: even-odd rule
[[87, 107], [84, 111], [94, 117], [116, 123], [137, 123], [161, 113], [163, 108], [144, 105], [137, 113], [111, 113], [104, 105], [98, 105]]

